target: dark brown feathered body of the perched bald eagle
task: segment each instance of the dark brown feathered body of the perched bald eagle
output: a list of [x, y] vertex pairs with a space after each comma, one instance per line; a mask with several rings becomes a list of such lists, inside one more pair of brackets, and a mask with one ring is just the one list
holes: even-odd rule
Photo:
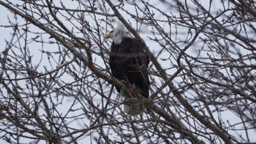
[[[138, 92], [148, 98], [148, 56], [145, 45], [136, 38], [123, 38], [121, 44], [112, 43], [109, 65], [112, 76], [130, 84], [135, 84]], [[118, 93], [120, 88], [116, 87]]]

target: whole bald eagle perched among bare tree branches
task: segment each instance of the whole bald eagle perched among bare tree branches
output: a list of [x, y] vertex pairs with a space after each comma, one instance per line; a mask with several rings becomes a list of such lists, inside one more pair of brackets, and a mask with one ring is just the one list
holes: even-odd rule
[[[130, 38], [122, 24], [108, 33], [105, 38], [113, 40], [111, 44], [109, 65], [111, 74], [119, 81], [125, 81], [136, 89], [143, 97], [148, 98], [148, 55], [143, 50], [145, 44], [137, 38]], [[128, 93], [116, 86], [116, 90], [124, 99], [129, 99]], [[130, 97], [131, 98], [131, 97]], [[138, 115], [140, 104], [124, 105], [124, 112]]]

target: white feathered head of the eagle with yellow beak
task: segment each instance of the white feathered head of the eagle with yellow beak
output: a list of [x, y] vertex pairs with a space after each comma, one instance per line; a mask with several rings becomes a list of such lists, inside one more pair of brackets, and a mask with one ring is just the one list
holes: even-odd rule
[[110, 31], [104, 38], [111, 38], [113, 43], [121, 44], [123, 38], [127, 36], [124, 25], [119, 23], [118, 26], [113, 31]]

